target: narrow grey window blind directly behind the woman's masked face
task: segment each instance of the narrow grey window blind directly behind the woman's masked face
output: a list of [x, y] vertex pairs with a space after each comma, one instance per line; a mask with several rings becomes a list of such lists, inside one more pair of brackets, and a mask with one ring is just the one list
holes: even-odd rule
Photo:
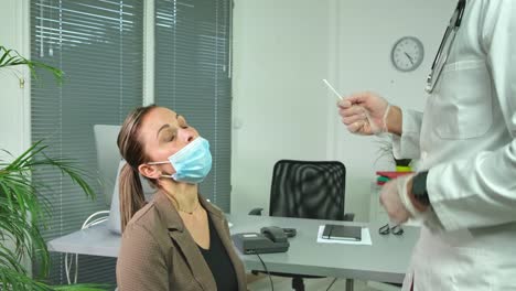
[[230, 0], [155, 0], [155, 104], [183, 115], [209, 141], [200, 192], [229, 212]]

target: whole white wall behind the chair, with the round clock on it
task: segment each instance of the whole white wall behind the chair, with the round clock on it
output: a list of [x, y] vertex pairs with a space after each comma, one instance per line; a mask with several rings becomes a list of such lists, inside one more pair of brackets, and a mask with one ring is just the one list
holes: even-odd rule
[[[340, 160], [347, 169], [346, 212], [367, 220], [378, 153], [373, 138], [347, 133], [335, 97], [375, 90], [394, 104], [423, 106], [426, 76], [453, 0], [237, 0], [234, 12], [232, 211], [268, 209], [279, 159]], [[390, 48], [418, 36], [419, 69], [398, 73]]]

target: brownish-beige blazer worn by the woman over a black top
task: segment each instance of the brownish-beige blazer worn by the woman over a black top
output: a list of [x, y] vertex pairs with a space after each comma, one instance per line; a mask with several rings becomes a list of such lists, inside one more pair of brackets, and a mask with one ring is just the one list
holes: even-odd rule
[[[238, 290], [246, 290], [244, 265], [235, 252], [223, 212], [201, 195], [200, 202], [233, 262]], [[120, 291], [217, 290], [209, 267], [165, 194], [158, 192], [127, 225], [117, 261], [117, 283]]]

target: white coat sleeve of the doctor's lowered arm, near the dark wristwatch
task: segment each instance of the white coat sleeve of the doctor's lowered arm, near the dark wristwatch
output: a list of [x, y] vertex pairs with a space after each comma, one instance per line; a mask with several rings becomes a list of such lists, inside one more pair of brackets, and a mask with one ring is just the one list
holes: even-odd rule
[[430, 169], [430, 202], [447, 230], [516, 222], [516, 2], [484, 0], [482, 11], [479, 41], [510, 140]]

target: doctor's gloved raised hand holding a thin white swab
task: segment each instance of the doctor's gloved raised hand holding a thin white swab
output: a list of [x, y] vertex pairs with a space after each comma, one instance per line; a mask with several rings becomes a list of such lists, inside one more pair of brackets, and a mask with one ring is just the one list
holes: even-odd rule
[[[399, 110], [398, 107], [391, 107], [387, 100], [369, 91], [356, 93], [343, 98], [327, 80], [323, 79], [323, 82], [340, 98], [338, 115], [350, 132], [364, 136], [380, 134], [389, 130], [393, 133], [401, 132], [401, 128], [387, 127], [389, 111]], [[400, 112], [394, 115], [396, 118], [400, 116]], [[390, 123], [400, 125], [401, 122], [395, 120]]]

